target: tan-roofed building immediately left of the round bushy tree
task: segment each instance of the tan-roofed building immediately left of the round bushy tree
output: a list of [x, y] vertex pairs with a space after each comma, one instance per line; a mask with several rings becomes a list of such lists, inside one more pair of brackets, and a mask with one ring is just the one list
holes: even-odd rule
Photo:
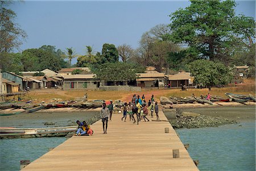
[[171, 87], [193, 86], [193, 77], [190, 76], [190, 72], [180, 72], [174, 75], [166, 75], [166, 84], [170, 84]]

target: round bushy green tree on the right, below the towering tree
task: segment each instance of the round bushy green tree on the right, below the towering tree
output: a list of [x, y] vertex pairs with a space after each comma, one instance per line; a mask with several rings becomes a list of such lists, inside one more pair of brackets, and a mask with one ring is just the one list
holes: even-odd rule
[[196, 84], [206, 85], [209, 90], [214, 85], [226, 85], [232, 80], [232, 74], [224, 64], [209, 60], [196, 60], [189, 65]]

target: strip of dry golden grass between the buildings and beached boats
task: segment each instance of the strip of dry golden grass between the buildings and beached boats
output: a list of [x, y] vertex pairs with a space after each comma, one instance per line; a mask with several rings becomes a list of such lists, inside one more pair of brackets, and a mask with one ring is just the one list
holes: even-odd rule
[[[181, 91], [180, 89], [155, 89], [147, 90], [143, 89], [142, 91], [85, 91], [85, 90], [69, 90], [61, 91], [56, 89], [46, 89], [46, 90], [35, 90], [30, 91], [26, 95], [26, 99], [37, 99], [38, 101], [49, 101], [53, 98], [59, 98], [64, 101], [73, 100], [76, 98], [84, 97], [84, 94], [88, 94], [88, 99], [105, 99], [105, 100], [117, 100], [121, 99], [122, 101], [130, 101], [133, 94], [144, 94], [146, 99], [150, 99], [151, 95], [154, 94], [156, 99], [159, 99], [161, 96], [165, 97], [186, 97], [195, 94], [199, 97], [201, 94], [207, 95], [209, 92], [208, 89], [188, 89], [187, 91]], [[245, 84], [238, 84], [237, 87], [234, 85], [229, 85], [229, 87], [222, 88], [212, 88], [210, 94], [218, 95], [226, 98], [224, 93], [234, 93], [234, 94], [254, 94], [255, 95], [255, 80], [246, 80]]]

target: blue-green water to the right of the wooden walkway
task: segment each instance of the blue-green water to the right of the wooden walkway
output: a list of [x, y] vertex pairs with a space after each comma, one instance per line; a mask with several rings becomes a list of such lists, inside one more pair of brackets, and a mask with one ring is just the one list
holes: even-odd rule
[[[240, 126], [242, 125], [242, 126]], [[176, 130], [200, 170], [255, 170], [255, 123]]]

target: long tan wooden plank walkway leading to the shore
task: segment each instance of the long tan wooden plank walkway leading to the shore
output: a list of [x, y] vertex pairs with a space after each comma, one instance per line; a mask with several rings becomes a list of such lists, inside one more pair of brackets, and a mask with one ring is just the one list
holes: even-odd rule
[[[159, 116], [167, 120], [162, 110]], [[108, 134], [102, 134], [101, 120], [94, 123], [93, 136], [73, 136], [22, 170], [199, 170], [169, 122], [137, 125], [121, 118], [113, 114]], [[179, 149], [179, 158], [172, 149]]]

